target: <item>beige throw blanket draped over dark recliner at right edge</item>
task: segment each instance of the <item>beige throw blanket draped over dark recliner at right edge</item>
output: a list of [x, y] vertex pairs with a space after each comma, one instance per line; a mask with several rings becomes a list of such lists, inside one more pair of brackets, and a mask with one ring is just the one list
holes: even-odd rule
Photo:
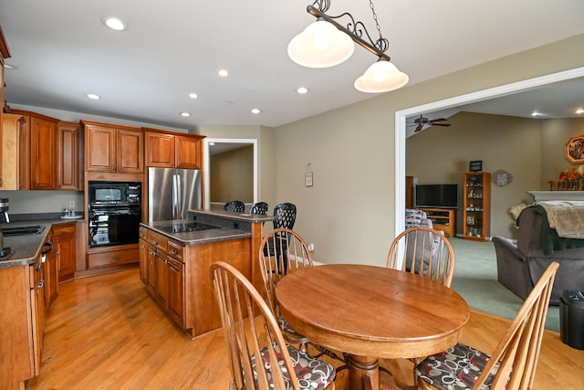
[[546, 209], [549, 227], [558, 231], [559, 237], [584, 238], [584, 202], [539, 202]]

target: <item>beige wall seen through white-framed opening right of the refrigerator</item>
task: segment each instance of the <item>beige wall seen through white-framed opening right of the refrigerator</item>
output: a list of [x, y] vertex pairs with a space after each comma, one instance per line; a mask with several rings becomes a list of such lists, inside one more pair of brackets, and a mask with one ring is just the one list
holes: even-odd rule
[[214, 154], [211, 168], [211, 202], [254, 202], [254, 145]]

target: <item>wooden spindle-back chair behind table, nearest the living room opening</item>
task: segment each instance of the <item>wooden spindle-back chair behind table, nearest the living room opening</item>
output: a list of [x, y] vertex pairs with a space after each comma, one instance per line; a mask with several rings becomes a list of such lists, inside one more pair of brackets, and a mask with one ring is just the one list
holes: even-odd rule
[[431, 227], [412, 227], [391, 242], [387, 267], [450, 287], [454, 277], [454, 249], [443, 232]]

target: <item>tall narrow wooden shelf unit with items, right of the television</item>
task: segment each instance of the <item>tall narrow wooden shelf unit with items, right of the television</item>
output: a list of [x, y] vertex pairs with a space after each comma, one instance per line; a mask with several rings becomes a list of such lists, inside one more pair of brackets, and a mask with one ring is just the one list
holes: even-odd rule
[[491, 234], [491, 174], [464, 174], [463, 237], [485, 241]]

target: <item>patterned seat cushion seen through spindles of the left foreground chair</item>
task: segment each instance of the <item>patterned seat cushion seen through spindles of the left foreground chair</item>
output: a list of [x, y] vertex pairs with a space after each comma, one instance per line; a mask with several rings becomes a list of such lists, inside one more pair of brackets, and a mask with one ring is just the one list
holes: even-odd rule
[[[278, 354], [278, 360], [280, 357], [279, 349], [277, 345], [274, 345], [276, 353]], [[287, 345], [288, 353], [290, 353], [290, 358], [292, 359], [292, 365], [294, 365], [294, 371], [296, 372], [298, 378], [298, 385], [301, 389], [307, 390], [322, 390], [326, 388], [332, 381], [335, 380], [335, 368], [321, 360], [311, 357], [307, 353], [298, 351], [291, 345]], [[266, 367], [268, 372], [270, 387], [271, 386], [271, 370], [272, 363], [270, 362], [270, 356], [267, 351], [267, 347], [262, 350], [262, 362]], [[252, 364], [254, 364], [255, 370], [255, 356], [252, 356]], [[280, 364], [278, 363], [278, 366]], [[256, 375], [256, 373], [254, 372]], [[287, 389], [291, 389], [290, 378], [286, 371], [282, 371], [282, 376], [284, 376], [284, 382]]]

